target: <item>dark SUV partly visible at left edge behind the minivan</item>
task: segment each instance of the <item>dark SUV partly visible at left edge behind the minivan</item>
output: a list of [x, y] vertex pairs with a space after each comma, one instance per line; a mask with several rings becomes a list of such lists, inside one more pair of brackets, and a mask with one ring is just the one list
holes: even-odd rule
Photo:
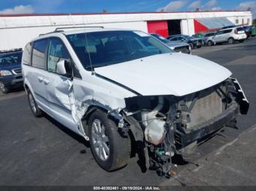
[[22, 49], [0, 51], [0, 90], [8, 93], [12, 87], [22, 87]]

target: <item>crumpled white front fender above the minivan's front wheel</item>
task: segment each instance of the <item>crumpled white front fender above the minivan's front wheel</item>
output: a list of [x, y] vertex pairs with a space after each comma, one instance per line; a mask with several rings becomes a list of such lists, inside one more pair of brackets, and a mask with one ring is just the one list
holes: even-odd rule
[[135, 94], [95, 75], [83, 74], [83, 79], [69, 81], [69, 101], [72, 118], [80, 134], [89, 139], [81, 121], [89, 106], [97, 106], [108, 112], [118, 111], [125, 107], [124, 98]]

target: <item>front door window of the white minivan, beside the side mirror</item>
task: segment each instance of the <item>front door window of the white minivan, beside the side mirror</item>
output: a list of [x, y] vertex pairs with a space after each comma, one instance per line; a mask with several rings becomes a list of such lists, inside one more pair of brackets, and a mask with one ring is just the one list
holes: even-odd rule
[[66, 60], [70, 63], [70, 58], [64, 44], [60, 39], [50, 39], [48, 50], [48, 71], [56, 72], [59, 61]]

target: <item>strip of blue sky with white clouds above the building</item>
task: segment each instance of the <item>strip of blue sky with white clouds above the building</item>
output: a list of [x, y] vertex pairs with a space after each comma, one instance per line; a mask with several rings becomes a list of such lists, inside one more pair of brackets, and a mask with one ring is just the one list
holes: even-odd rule
[[256, 17], [256, 0], [0, 0], [0, 14], [74, 12], [166, 12], [251, 8]]

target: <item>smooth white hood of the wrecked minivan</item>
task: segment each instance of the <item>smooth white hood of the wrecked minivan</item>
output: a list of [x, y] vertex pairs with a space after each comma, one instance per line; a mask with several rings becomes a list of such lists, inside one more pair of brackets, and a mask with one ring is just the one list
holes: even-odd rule
[[217, 85], [231, 75], [217, 63], [182, 53], [152, 55], [95, 68], [95, 72], [141, 95], [176, 96]]

